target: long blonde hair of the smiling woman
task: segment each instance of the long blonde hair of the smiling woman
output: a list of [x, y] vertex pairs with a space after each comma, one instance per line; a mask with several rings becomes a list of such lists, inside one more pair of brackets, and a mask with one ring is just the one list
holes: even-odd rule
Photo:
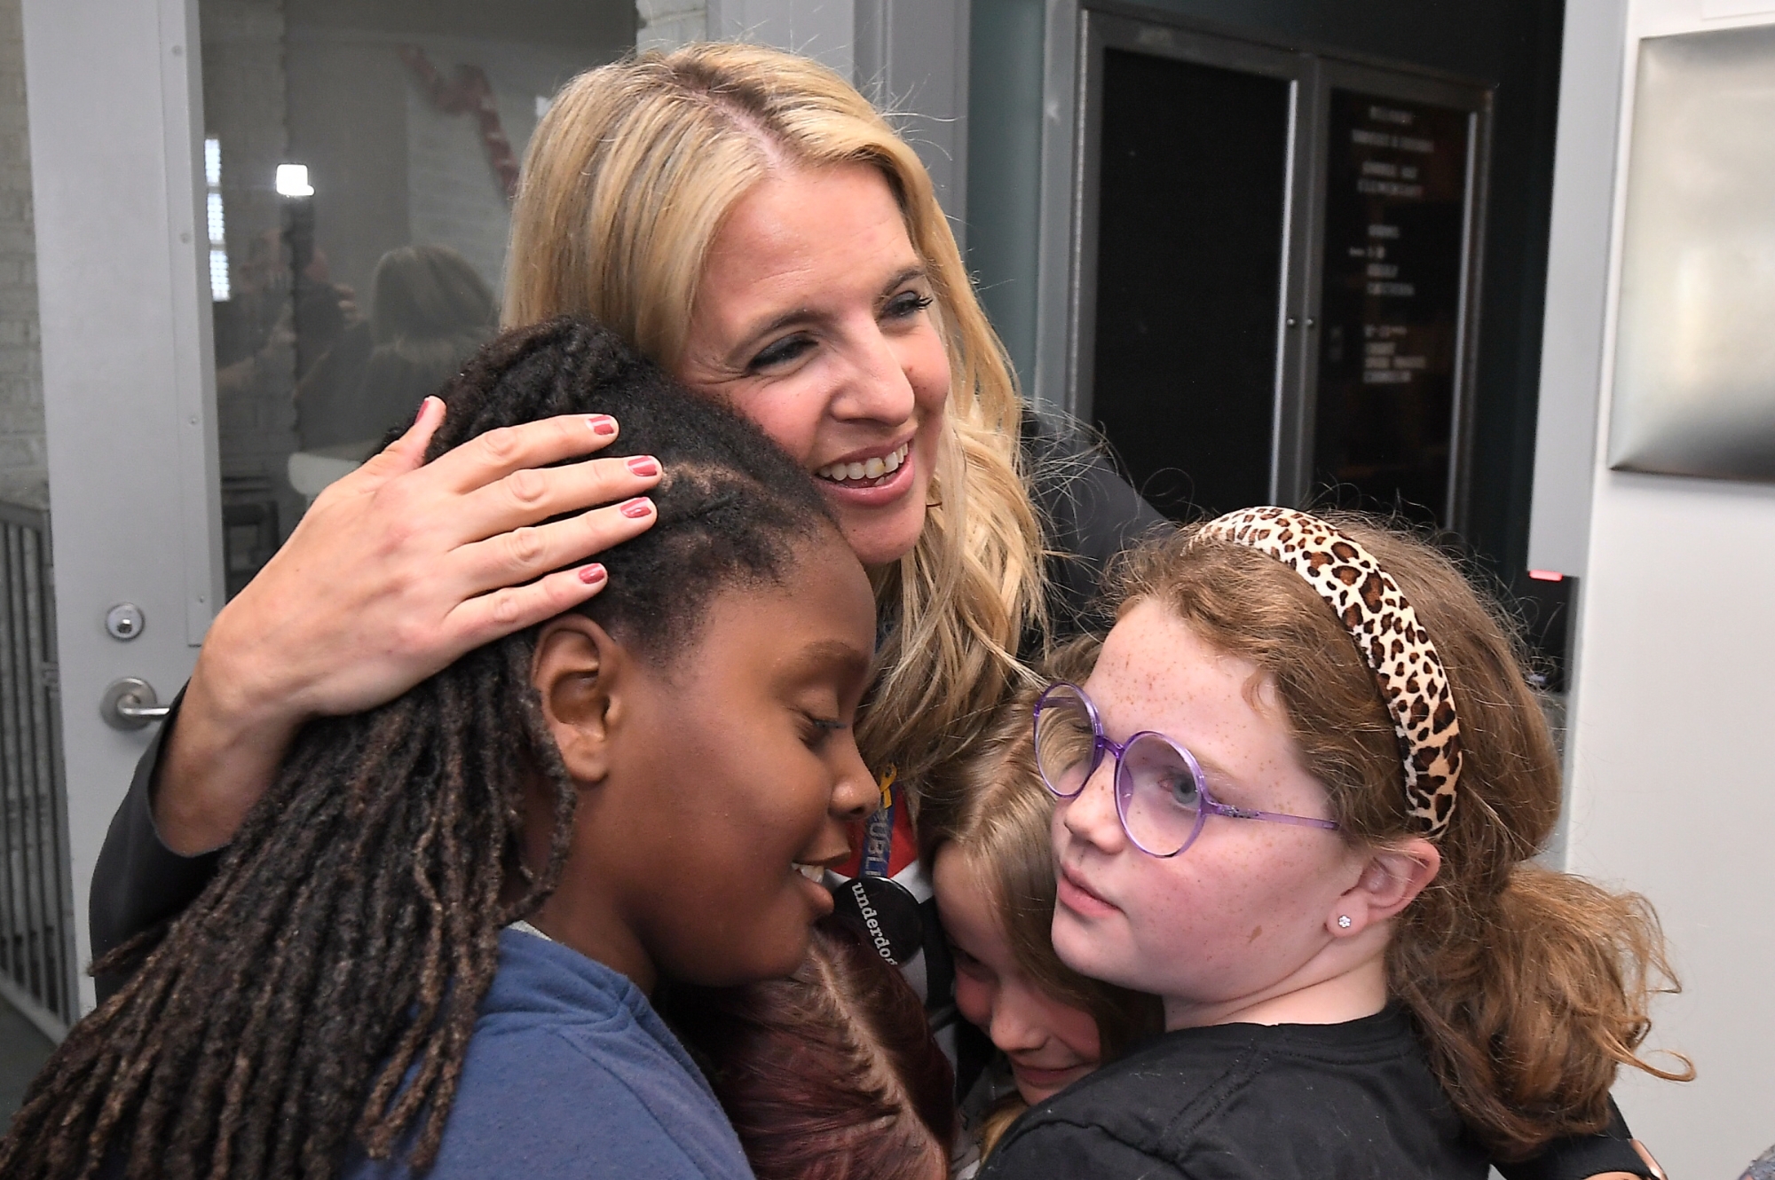
[[863, 754], [914, 786], [964, 751], [1042, 625], [1040, 531], [1021, 470], [1022, 403], [930, 176], [831, 69], [751, 44], [692, 44], [588, 71], [536, 128], [511, 216], [506, 323], [591, 316], [678, 366], [728, 211], [785, 167], [880, 172], [925, 263], [950, 401], [925, 531], [872, 571], [886, 621]]

